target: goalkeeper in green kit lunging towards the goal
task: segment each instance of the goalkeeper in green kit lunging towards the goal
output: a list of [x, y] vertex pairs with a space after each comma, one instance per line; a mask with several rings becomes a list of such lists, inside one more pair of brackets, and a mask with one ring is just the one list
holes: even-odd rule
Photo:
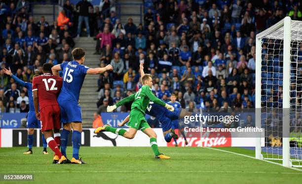
[[[152, 75], [151, 74], [145, 74], [142, 76], [142, 88], [139, 89], [134, 96], [134, 102], [131, 106], [131, 112], [130, 112], [130, 120], [128, 122], [129, 131], [126, 131], [125, 129], [117, 129], [113, 128], [109, 125], [104, 125], [101, 127], [98, 127], [95, 129], [94, 133], [99, 132], [112, 132], [117, 135], [123, 136], [127, 139], [133, 139], [136, 132], [138, 130], [141, 130], [144, 132], [147, 136], [150, 137], [150, 145], [152, 147], [152, 150], [155, 154], [155, 158], [170, 158], [169, 156], [166, 156], [162, 153], [159, 153], [157, 143], [156, 143], [156, 133], [153, 129], [149, 126], [149, 124], [146, 121], [145, 118], [145, 111], [149, 105], [149, 102], [152, 101], [155, 104], [161, 105], [166, 107], [170, 111], [174, 111], [174, 107], [162, 102], [157, 97], [155, 97], [152, 93], [151, 87], [152, 87]], [[109, 106], [107, 111], [113, 111], [116, 109], [116, 105]]]

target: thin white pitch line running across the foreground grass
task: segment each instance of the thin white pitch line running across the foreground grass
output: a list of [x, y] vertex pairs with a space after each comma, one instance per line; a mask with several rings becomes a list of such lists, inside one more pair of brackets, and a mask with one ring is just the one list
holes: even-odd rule
[[[1, 171], [0, 171], [1, 172]], [[83, 170], [83, 171], [12, 171], [12, 172], [7, 172], [5, 173], [131, 173], [131, 172], [138, 172], [138, 173], [241, 173], [241, 174], [289, 174], [289, 175], [302, 175], [302, 173], [289, 173], [289, 172], [259, 172], [259, 171], [254, 171], [254, 172], [246, 172], [246, 171], [151, 171], [151, 170], [146, 170], [146, 171], [98, 171], [98, 170]]]

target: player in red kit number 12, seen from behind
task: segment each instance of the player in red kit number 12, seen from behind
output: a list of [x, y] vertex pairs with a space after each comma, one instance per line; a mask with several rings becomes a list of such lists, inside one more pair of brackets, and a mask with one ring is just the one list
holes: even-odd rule
[[58, 157], [57, 163], [61, 164], [65, 163], [67, 158], [62, 155], [52, 133], [53, 131], [57, 133], [61, 129], [61, 112], [57, 98], [61, 92], [63, 80], [59, 76], [52, 75], [52, 67], [53, 64], [43, 64], [43, 74], [33, 79], [33, 96], [36, 117], [41, 120], [41, 131], [44, 133], [48, 146], [55, 152], [55, 157]]

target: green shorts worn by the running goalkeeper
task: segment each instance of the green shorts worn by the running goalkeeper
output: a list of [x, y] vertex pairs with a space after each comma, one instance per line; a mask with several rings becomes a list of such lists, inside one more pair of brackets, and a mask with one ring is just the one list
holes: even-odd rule
[[150, 128], [149, 124], [146, 121], [145, 114], [135, 109], [132, 109], [130, 112], [130, 119], [128, 122], [128, 126], [131, 128], [135, 128], [136, 130], [141, 130], [144, 132], [147, 128]]

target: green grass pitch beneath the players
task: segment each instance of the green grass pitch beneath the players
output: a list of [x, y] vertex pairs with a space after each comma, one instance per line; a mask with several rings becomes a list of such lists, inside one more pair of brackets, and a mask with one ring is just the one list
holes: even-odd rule
[[[219, 149], [254, 156], [253, 150]], [[43, 184], [301, 184], [302, 179], [301, 171], [202, 147], [160, 147], [169, 160], [155, 159], [150, 147], [81, 147], [83, 165], [51, 164], [53, 155], [41, 154], [41, 148], [32, 155], [23, 155], [25, 150], [0, 148], [0, 174], [34, 174], [35, 183]], [[67, 150], [71, 156], [72, 148]]]

